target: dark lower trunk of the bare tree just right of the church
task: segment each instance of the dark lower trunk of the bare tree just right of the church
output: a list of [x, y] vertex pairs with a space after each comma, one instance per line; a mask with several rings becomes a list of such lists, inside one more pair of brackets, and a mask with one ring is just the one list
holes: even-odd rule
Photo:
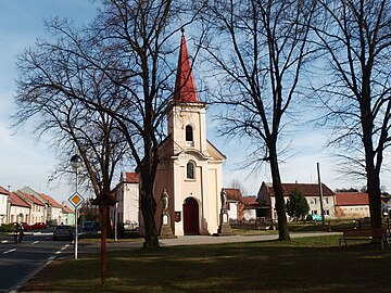
[[287, 221], [286, 205], [283, 201], [283, 190], [281, 183], [281, 177], [278, 167], [277, 151], [275, 148], [269, 148], [270, 152], [270, 170], [272, 170], [272, 180], [273, 188], [276, 196], [276, 209], [278, 218], [278, 240], [289, 241], [289, 226]]

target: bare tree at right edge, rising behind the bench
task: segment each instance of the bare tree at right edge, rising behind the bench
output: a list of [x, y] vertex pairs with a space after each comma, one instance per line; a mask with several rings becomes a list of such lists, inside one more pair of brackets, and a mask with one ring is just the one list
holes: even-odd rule
[[325, 25], [314, 27], [328, 56], [316, 87], [345, 173], [366, 178], [371, 227], [381, 227], [381, 169], [391, 137], [391, 1], [319, 1]]

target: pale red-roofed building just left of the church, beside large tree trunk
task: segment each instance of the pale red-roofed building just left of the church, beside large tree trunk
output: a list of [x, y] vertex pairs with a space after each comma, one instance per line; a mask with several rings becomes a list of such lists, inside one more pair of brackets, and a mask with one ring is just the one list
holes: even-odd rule
[[[139, 175], [124, 171], [121, 181], [114, 189], [118, 201], [116, 208], [112, 207], [112, 218], [117, 213], [117, 222], [138, 225], [139, 222]], [[116, 211], [115, 211], [116, 209]]]

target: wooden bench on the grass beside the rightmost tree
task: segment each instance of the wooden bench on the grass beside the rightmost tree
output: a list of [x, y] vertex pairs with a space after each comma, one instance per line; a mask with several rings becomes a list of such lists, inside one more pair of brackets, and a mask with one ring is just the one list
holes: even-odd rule
[[390, 247], [386, 228], [362, 228], [343, 230], [342, 238], [339, 240], [339, 245], [341, 247], [343, 243], [345, 246], [348, 246], [348, 241], [364, 240], [370, 240], [371, 242], [380, 243], [382, 250], [384, 249], [384, 244]]

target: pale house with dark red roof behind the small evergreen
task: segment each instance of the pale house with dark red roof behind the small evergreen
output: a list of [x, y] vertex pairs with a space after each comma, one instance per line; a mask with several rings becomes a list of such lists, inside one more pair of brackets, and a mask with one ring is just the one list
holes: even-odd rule
[[[321, 215], [320, 212], [320, 190], [317, 183], [282, 183], [283, 200], [288, 202], [290, 194], [294, 189], [301, 191], [310, 205], [311, 215]], [[323, 208], [325, 216], [335, 217], [335, 193], [321, 183]], [[257, 217], [270, 217], [277, 219], [276, 198], [272, 183], [262, 182], [257, 202]]]

